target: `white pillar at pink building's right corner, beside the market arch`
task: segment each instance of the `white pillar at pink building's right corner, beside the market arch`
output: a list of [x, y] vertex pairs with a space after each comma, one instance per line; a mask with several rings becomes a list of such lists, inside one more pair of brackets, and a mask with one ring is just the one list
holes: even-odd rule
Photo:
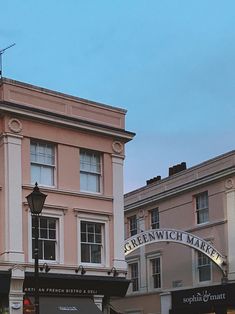
[[117, 269], [127, 270], [124, 256], [124, 196], [123, 196], [123, 156], [113, 155], [113, 232], [114, 261]]

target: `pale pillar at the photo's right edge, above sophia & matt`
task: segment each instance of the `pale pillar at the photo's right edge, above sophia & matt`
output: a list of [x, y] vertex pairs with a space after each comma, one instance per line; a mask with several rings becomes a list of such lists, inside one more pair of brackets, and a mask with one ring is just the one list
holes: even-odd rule
[[227, 192], [228, 221], [228, 279], [235, 280], [235, 190]]

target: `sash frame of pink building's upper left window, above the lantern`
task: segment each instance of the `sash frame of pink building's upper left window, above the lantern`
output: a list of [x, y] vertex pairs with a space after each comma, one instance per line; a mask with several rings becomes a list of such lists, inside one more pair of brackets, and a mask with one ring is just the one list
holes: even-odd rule
[[[53, 163], [52, 164], [47, 164], [47, 163], [42, 163], [42, 162], [38, 162], [38, 161], [32, 161], [31, 159], [31, 146], [33, 144], [36, 144], [36, 147], [38, 147], [40, 144], [41, 145], [50, 145], [53, 149], [53, 154], [52, 154], [52, 158], [53, 158]], [[54, 143], [48, 142], [48, 141], [41, 141], [38, 139], [30, 139], [30, 183], [31, 184], [35, 184], [35, 180], [33, 180], [32, 178], [32, 166], [36, 165], [40, 167], [40, 171], [43, 168], [49, 168], [52, 171], [52, 184], [48, 185], [45, 184], [44, 182], [41, 182], [41, 177], [42, 175], [40, 174], [40, 179], [36, 180], [36, 182], [41, 185], [41, 186], [46, 186], [46, 187], [55, 187], [56, 186], [56, 145]], [[37, 154], [36, 154], [37, 156]]]

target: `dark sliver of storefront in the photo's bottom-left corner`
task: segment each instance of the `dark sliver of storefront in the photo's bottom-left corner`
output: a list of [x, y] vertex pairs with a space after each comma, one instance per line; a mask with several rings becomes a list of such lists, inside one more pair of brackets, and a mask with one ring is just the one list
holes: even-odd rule
[[0, 314], [9, 313], [10, 278], [10, 272], [0, 271]]

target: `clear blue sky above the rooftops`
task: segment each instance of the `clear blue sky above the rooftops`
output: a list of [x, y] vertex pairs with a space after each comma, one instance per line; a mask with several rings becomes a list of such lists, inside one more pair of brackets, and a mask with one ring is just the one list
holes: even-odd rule
[[235, 148], [234, 0], [1, 1], [3, 76], [128, 110], [125, 191]]

